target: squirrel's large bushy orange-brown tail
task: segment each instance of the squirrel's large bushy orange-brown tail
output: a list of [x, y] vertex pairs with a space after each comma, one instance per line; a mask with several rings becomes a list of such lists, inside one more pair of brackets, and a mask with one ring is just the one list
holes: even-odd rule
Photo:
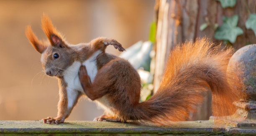
[[242, 71], [227, 71], [231, 48], [225, 50], [207, 38], [175, 47], [169, 55], [160, 87], [136, 112], [141, 120], [165, 124], [184, 121], [203, 99], [202, 92], [212, 91], [213, 116], [236, 111], [234, 101], [245, 97]]

